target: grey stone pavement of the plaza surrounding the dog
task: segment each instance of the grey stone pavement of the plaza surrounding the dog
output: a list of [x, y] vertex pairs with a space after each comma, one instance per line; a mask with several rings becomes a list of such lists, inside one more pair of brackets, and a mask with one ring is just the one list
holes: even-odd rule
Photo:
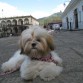
[[[0, 39], [0, 67], [18, 47], [19, 37]], [[23, 81], [20, 72], [0, 76], [0, 83], [83, 83], [83, 31], [60, 31], [54, 33], [56, 52], [63, 59], [63, 72], [52, 81], [44, 82], [39, 77]], [[1, 72], [1, 70], [0, 70]]]

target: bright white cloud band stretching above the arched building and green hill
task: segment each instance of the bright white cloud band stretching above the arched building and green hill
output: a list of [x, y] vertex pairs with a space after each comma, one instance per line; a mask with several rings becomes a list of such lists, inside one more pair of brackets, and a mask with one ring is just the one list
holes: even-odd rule
[[[68, 3], [66, 3], [66, 6], [68, 5]], [[23, 10], [19, 10], [17, 7], [12, 6], [8, 3], [3, 3], [0, 2], [0, 17], [13, 17], [13, 16], [24, 16], [24, 15], [32, 15], [35, 18], [42, 18], [42, 17], [46, 17], [49, 16], [53, 13], [56, 12], [60, 12], [60, 11], [64, 11], [64, 9], [66, 8], [66, 6], [64, 7], [63, 4], [58, 5], [56, 8], [54, 8], [51, 12], [48, 11], [33, 11], [33, 12], [24, 12]], [[3, 11], [2, 11], [3, 10]]]

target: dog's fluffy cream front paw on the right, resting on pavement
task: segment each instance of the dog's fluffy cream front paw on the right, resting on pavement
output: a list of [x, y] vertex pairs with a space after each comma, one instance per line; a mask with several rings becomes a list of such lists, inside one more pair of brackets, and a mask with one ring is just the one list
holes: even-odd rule
[[48, 66], [40, 72], [39, 76], [45, 81], [50, 81], [52, 79], [55, 79], [55, 77], [57, 77], [61, 73], [61, 71], [62, 67]]

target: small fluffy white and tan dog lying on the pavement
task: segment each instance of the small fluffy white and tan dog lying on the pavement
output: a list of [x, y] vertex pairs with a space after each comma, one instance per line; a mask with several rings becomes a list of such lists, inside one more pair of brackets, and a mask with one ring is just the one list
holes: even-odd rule
[[62, 71], [62, 59], [54, 52], [52, 36], [40, 26], [22, 32], [20, 50], [2, 64], [4, 72], [20, 68], [21, 78], [32, 80], [39, 76], [45, 81], [55, 79]]

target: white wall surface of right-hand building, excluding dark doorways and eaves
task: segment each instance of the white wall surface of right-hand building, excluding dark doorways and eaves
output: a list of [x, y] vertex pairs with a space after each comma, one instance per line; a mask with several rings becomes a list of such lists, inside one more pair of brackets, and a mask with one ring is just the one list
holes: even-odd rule
[[80, 0], [79, 3], [77, 3], [71, 11], [69, 11], [64, 17], [62, 17], [62, 25], [64, 29], [67, 29], [67, 21], [66, 18], [68, 17], [68, 25], [69, 29], [75, 29], [75, 18], [74, 18], [74, 10], [77, 8], [78, 12], [78, 29], [83, 29], [83, 0]]

